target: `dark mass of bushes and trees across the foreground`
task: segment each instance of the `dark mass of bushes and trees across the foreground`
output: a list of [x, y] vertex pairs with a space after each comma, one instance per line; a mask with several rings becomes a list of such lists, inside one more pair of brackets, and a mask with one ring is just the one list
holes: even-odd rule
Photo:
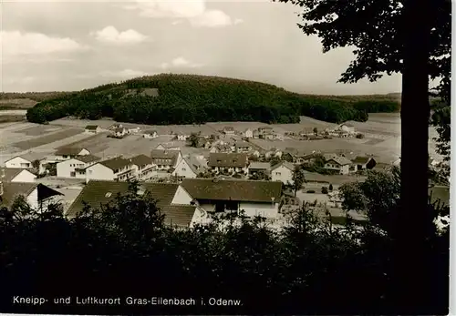
[[[137, 195], [135, 183], [129, 193], [100, 209], [87, 207], [70, 220], [58, 205], [40, 213], [17, 199], [11, 209], [0, 211], [2, 286], [12, 295], [214, 297], [244, 303], [237, 310], [196, 306], [152, 311], [147, 306], [142, 313], [446, 314], [449, 235], [439, 233], [431, 218], [433, 228], [423, 245], [432, 264], [427, 271], [434, 280], [430, 297], [411, 306], [395, 301], [391, 243], [395, 229], [404, 228], [391, 225], [398, 188], [396, 183], [389, 189], [391, 181], [397, 178], [373, 174], [373, 186], [348, 199], [352, 204], [354, 199], [370, 201], [363, 204], [370, 210], [369, 221], [358, 229], [350, 218], [346, 226], [334, 227], [306, 206], [280, 232], [265, 227], [260, 218], [242, 219], [241, 225], [171, 229], [163, 225], [155, 199], [149, 192]], [[388, 212], [378, 196], [388, 200]], [[430, 206], [430, 214], [435, 217], [437, 209]], [[10, 297], [4, 298], [9, 302]], [[25, 312], [20, 308], [15, 311]], [[67, 313], [69, 307], [57, 308], [51, 305], [47, 311]], [[76, 308], [85, 314], [114, 312]], [[115, 309], [131, 313], [131, 307]]]

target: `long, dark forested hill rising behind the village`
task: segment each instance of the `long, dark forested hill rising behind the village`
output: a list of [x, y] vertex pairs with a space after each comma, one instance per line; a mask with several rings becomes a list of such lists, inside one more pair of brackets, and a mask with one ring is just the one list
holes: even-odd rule
[[365, 121], [368, 112], [399, 110], [395, 98], [299, 95], [264, 83], [195, 75], [142, 76], [79, 92], [57, 94], [27, 111], [30, 122], [60, 117], [142, 124], [211, 121], [295, 123], [299, 116], [328, 122]]

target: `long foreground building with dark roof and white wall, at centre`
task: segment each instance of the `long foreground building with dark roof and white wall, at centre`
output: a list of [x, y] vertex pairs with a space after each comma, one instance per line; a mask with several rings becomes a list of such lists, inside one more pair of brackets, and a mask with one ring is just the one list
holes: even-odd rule
[[282, 205], [282, 183], [221, 178], [184, 178], [173, 201], [192, 203], [213, 215], [241, 212], [275, 219]]

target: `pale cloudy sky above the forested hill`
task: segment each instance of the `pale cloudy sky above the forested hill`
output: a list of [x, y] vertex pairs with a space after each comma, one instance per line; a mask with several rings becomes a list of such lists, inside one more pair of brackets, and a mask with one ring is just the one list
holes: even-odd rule
[[326, 54], [268, 0], [5, 0], [0, 89], [67, 91], [160, 73], [229, 76], [326, 95], [400, 91], [400, 76], [340, 84], [351, 48]]

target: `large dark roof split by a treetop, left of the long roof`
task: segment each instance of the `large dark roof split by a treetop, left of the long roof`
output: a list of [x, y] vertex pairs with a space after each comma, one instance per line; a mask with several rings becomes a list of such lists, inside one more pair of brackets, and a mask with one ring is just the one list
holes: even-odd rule
[[[166, 224], [187, 227], [192, 222], [194, 206], [171, 204], [179, 185], [145, 182], [141, 186], [157, 199], [157, 207], [165, 215]], [[67, 210], [67, 216], [75, 217], [84, 208], [83, 201], [92, 208], [99, 209], [100, 205], [113, 201], [118, 193], [126, 193], [128, 189], [129, 183], [125, 181], [90, 180]]]

